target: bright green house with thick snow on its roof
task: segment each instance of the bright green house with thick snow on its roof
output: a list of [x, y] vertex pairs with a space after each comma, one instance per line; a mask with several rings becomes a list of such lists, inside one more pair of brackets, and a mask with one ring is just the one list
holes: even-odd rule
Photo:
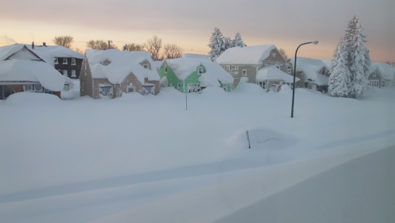
[[161, 87], [174, 87], [181, 92], [200, 92], [210, 86], [231, 91], [233, 83], [233, 77], [229, 73], [207, 59], [166, 59], [159, 69], [159, 76]]

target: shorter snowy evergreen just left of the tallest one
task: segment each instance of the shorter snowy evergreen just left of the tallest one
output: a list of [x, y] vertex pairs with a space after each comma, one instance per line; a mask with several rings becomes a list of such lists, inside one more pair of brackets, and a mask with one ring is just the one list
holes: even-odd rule
[[350, 71], [347, 67], [347, 52], [343, 38], [334, 51], [331, 76], [329, 77], [328, 93], [334, 97], [347, 97], [350, 83]]

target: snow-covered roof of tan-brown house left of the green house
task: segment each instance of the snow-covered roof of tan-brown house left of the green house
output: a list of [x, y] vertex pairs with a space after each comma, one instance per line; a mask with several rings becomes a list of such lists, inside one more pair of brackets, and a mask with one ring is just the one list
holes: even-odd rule
[[[144, 83], [145, 78], [160, 80], [159, 74], [153, 66], [148, 69], [141, 65], [146, 60], [153, 65], [148, 52], [87, 49], [85, 54], [90, 65], [92, 78], [107, 78], [110, 83], [120, 84], [130, 73], [133, 73], [140, 83]], [[102, 62], [106, 60], [111, 61], [111, 63], [104, 66]]]

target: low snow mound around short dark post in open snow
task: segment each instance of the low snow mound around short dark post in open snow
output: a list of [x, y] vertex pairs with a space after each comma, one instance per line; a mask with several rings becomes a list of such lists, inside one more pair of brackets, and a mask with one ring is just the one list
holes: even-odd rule
[[279, 133], [268, 128], [251, 127], [236, 131], [226, 140], [226, 143], [248, 148], [247, 131], [251, 149], [283, 149], [298, 142], [295, 137], [285, 133]]

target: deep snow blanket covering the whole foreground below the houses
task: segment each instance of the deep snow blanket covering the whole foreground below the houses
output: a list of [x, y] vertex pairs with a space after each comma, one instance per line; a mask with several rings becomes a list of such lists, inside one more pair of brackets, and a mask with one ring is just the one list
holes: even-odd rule
[[207, 88], [186, 111], [173, 88], [11, 95], [0, 222], [394, 222], [395, 89], [297, 89], [293, 119], [291, 98]]

